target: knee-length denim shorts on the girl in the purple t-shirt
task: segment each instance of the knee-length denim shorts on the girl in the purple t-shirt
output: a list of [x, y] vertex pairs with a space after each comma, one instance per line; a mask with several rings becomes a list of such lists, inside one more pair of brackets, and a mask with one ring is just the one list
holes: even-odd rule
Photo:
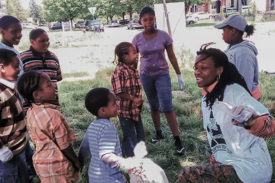
[[140, 81], [151, 110], [159, 109], [159, 106], [162, 112], [174, 110], [172, 104], [172, 85], [169, 74], [158, 76], [140, 75]]

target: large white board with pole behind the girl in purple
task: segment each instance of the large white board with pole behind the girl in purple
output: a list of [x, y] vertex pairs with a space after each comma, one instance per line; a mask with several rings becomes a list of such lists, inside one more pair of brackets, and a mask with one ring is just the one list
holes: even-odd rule
[[[186, 28], [185, 4], [184, 2], [166, 3], [168, 18], [170, 22], [172, 38], [180, 35]], [[154, 4], [156, 27], [168, 33], [163, 3]]]

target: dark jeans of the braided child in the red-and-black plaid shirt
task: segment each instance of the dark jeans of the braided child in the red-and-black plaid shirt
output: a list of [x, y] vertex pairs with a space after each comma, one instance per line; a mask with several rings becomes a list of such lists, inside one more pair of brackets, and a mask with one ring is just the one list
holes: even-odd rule
[[127, 117], [120, 117], [121, 129], [123, 132], [122, 156], [129, 158], [135, 156], [134, 149], [138, 142], [145, 142], [145, 134], [141, 116], [139, 121]]

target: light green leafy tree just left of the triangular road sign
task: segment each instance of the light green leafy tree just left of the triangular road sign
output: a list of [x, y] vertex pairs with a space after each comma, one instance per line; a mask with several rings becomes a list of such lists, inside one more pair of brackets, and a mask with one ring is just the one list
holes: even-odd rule
[[91, 7], [89, 0], [43, 0], [44, 17], [47, 21], [71, 21]]

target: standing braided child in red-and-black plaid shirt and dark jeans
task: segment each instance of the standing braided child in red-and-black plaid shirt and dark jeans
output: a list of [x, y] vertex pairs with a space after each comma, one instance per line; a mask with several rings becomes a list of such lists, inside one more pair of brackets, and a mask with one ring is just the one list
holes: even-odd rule
[[133, 64], [138, 62], [134, 45], [122, 42], [115, 49], [117, 67], [112, 75], [112, 91], [117, 95], [118, 116], [123, 131], [122, 154], [134, 157], [134, 148], [138, 142], [145, 142], [145, 134], [140, 110], [143, 104], [141, 82], [138, 70]]

